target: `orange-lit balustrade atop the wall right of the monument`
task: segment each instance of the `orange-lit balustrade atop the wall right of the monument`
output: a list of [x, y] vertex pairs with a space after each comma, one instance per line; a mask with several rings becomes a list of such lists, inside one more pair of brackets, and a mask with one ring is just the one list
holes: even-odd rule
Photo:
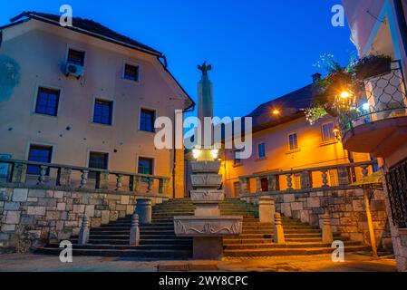
[[[376, 161], [336, 164], [309, 169], [270, 171], [239, 177], [240, 197], [276, 193], [349, 189], [377, 166]], [[252, 190], [253, 189], [253, 190]]]

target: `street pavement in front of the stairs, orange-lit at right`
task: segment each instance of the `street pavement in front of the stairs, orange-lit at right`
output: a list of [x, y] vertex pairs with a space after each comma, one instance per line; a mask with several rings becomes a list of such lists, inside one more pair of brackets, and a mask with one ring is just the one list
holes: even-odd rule
[[57, 271], [271, 271], [271, 272], [395, 272], [392, 256], [373, 258], [348, 254], [343, 263], [330, 255], [228, 258], [214, 261], [137, 261], [132, 258], [73, 256], [73, 263], [61, 263], [58, 256], [33, 254], [0, 255], [0, 272]]

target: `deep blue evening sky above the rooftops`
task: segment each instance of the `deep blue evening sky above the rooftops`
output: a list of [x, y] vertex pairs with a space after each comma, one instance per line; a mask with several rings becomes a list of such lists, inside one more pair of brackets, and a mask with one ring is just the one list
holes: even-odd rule
[[350, 32], [331, 24], [340, 0], [18, 0], [0, 5], [0, 25], [24, 10], [91, 18], [167, 55], [171, 73], [197, 100], [197, 64], [207, 60], [215, 115], [244, 116], [311, 82], [323, 53], [346, 63]]

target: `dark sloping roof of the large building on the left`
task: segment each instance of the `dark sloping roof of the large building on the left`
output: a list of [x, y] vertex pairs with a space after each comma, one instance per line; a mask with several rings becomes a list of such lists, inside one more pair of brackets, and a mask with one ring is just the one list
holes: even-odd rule
[[[50, 22], [53, 24], [55, 24], [55, 22], [56, 22], [59, 24], [59, 20], [60, 20], [61, 16], [56, 15], [56, 14], [46, 14], [46, 13], [28, 11], [28, 12], [19, 14], [18, 16], [13, 18], [11, 21], [14, 22], [22, 17], [34, 18], [36, 20]], [[148, 53], [162, 55], [162, 53], [151, 48], [150, 46], [143, 44], [143, 43], [139, 43], [138, 41], [135, 41], [134, 39], [131, 39], [130, 37], [127, 37], [125, 35], [118, 34], [114, 31], [112, 31], [110, 28], [103, 26], [102, 24], [99, 24], [90, 19], [73, 17], [73, 27], [67, 27], [67, 28], [79, 29], [82, 32], [87, 32], [89, 34], [92, 34], [93, 36], [100, 35], [100, 36], [104, 37], [106, 40], [111, 40], [111, 41], [117, 42], [119, 44], [123, 43], [123, 44], [129, 45], [129, 46], [132, 46], [134, 48], [139, 48], [142, 51], [145, 51]]]

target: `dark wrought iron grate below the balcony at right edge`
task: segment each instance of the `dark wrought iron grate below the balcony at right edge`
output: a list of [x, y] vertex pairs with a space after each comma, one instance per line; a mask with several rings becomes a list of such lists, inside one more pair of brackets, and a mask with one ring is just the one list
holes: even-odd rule
[[407, 227], [407, 160], [386, 174], [392, 220], [396, 227]]

